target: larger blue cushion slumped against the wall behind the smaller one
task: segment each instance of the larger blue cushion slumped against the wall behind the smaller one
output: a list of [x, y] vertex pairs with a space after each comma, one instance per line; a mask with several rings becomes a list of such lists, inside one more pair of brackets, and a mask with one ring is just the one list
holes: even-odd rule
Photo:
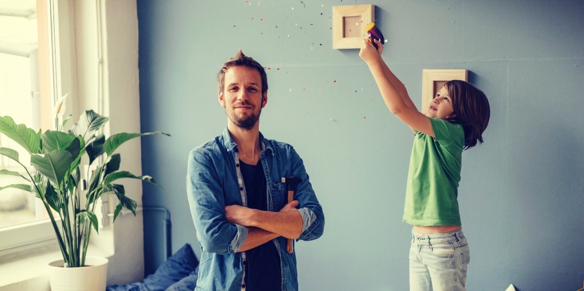
[[[191, 278], [185, 280], [184, 283], [192, 283], [192, 274], [195, 269], [197, 269], [198, 273], [198, 266], [199, 260], [194, 255], [193, 248], [190, 247], [190, 244], [185, 244], [172, 257], [168, 258], [164, 264], [158, 267], [154, 274], [147, 276], [141, 283], [130, 283], [121, 286], [112, 285], [108, 286], [106, 291], [165, 291], [171, 285], [187, 276]], [[196, 275], [197, 273], [194, 274]], [[194, 278], [194, 282], [196, 283], [196, 278]], [[190, 290], [194, 290], [194, 288]]]

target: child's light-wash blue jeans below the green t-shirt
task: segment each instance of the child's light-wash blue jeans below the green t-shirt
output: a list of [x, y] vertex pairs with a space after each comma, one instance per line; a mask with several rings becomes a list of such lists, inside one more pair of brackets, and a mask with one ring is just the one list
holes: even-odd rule
[[412, 230], [410, 291], [461, 291], [467, 281], [470, 250], [462, 229], [430, 235]]

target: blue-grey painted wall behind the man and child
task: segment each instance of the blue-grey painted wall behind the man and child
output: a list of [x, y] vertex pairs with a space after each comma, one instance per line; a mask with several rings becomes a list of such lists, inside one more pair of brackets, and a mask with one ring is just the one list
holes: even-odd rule
[[[216, 75], [241, 48], [267, 70], [260, 131], [294, 145], [325, 234], [297, 244], [301, 290], [406, 290], [401, 221], [412, 134], [384, 106], [358, 50], [332, 49], [332, 6], [371, 3], [384, 59], [421, 106], [422, 69], [468, 69], [491, 103], [459, 191], [469, 290], [576, 290], [584, 279], [582, 1], [142, 1], [144, 205], [172, 213], [172, 249], [198, 250], [187, 154], [227, 118]], [[152, 222], [145, 218], [145, 229]], [[162, 247], [146, 233], [148, 260]]]

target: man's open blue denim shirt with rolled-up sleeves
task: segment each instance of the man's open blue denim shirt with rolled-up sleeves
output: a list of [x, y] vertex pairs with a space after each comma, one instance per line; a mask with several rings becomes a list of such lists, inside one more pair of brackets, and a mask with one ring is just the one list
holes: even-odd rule
[[[302, 233], [297, 241], [318, 239], [324, 231], [325, 218], [302, 159], [292, 146], [265, 139], [261, 133], [260, 143], [269, 211], [278, 212], [287, 204], [287, 188], [281, 178], [301, 178], [294, 192], [294, 199], [300, 201], [298, 211], [303, 219]], [[245, 290], [245, 252], [236, 251], [244, 244], [248, 229], [228, 223], [225, 218], [225, 206], [246, 206], [239, 153], [227, 128], [222, 135], [189, 153], [186, 186], [201, 245], [195, 290]], [[298, 290], [296, 254], [286, 253], [286, 238], [277, 237], [272, 241], [281, 258], [281, 290]]]

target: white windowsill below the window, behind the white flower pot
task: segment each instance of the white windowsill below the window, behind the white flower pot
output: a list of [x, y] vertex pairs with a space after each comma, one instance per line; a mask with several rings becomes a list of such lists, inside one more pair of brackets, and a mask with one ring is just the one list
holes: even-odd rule
[[[110, 258], [113, 253], [90, 243], [87, 255]], [[61, 251], [50, 251], [0, 263], [0, 291], [49, 291], [48, 263], [61, 259]]]

